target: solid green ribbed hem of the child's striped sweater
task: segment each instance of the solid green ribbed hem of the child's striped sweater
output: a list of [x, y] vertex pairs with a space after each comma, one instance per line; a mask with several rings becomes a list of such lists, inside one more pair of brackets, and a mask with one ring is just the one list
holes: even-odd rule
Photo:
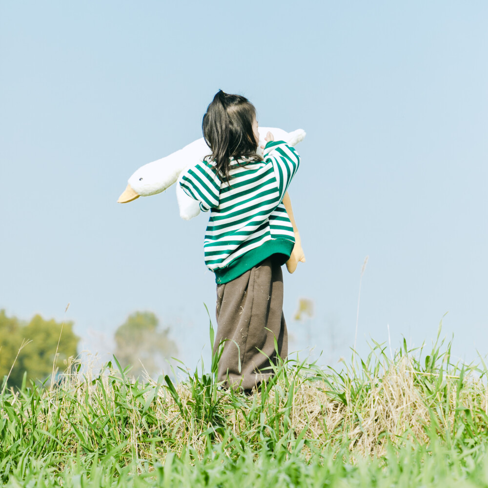
[[294, 245], [294, 241], [288, 241], [287, 239], [272, 239], [271, 241], [266, 241], [259, 247], [251, 249], [242, 256], [239, 256], [239, 258], [236, 258], [224, 268], [215, 269], [215, 283], [217, 283], [217, 285], [222, 285], [235, 280], [273, 254], [279, 256], [279, 264], [281, 266], [290, 258]]

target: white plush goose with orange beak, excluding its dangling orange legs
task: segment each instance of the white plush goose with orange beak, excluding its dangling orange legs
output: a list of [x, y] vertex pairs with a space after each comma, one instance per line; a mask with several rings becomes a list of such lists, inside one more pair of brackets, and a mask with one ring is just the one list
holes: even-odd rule
[[[275, 141], [285, 141], [292, 146], [305, 138], [305, 131], [302, 129], [286, 132], [276, 127], [259, 127], [258, 152], [261, 152], [261, 154], [261, 145], [265, 144], [264, 137], [268, 131], [273, 134]], [[148, 197], [149, 195], [161, 193], [178, 181], [184, 169], [197, 161], [202, 161], [210, 152], [206, 142], [201, 138], [165, 158], [144, 164], [129, 178], [127, 188], [125, 188], [117, 202], [132, 202], [139, 197]], [[188, 197], [180, 188], [180, 185], [176, 185], [176, 197], [182, 219], [190, 220], [200, 213], [198, 202]]]

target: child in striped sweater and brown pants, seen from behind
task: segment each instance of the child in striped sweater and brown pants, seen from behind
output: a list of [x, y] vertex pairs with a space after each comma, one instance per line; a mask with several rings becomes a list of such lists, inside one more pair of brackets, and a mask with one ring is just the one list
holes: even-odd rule
[[[186, 170], [179, 184], [210, 210], [203, 249], [217, 282], [214, 354], [224, 341], [218, 380], [250, 391], [272, 375], [275, 340], [280, 358], [288, 354], [281, 266], [295, 244], [286, 190], [300, 158], [270, 132], [259, 156], [254, 106], [222, 90], [208, 105], [202, 130], [212, 154]], [[303, 254], [299, 260], [305, 261]]]

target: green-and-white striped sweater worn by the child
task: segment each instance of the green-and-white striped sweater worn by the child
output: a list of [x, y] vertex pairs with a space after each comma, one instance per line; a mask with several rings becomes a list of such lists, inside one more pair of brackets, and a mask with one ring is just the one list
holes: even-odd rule
[[270, 141], [263, 161], [231, 160], [230, 186], [217, 176], [215, 162], [203, 160], [180, 177], [183, 191], [210, 210], [203, 249], [218, 284], [227, 283], [272, 254], [281, 264], [295, 237], [282, 203], [300, 157], [283, 141]]

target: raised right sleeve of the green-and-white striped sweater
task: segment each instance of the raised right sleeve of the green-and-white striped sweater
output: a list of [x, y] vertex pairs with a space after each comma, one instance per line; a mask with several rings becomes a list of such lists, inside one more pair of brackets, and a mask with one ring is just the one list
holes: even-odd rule
[[300, 165], [300, 156], [294, 147], [283, 141], [267, 142], [263, 154], [264, 161], [273, 165], [281, 202]]

